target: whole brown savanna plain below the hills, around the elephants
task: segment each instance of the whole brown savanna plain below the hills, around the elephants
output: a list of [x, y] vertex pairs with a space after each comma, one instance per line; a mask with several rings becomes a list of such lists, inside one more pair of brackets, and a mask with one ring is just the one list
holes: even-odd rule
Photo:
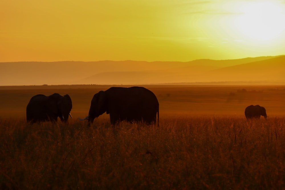
[[[146, 85], [159, 126], [78, 120], [109, 87], [0, 87], [0, 189], [284, 189], [285, 86]], [[72, 99], [68, 124], [27, 123], [53, 93]], [[252, 104], [268, 118], [245, 119]]]

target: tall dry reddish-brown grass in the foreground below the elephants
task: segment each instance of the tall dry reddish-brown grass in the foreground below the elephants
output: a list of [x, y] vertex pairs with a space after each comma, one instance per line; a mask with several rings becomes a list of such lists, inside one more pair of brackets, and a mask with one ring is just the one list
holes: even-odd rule
[[283, 189], [285, 119], [0, 119], [0, 189]]

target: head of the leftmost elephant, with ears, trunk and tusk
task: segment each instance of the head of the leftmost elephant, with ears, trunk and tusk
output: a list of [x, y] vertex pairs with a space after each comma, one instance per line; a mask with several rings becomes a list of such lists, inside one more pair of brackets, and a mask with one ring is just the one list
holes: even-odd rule
[[59, 117], [63, 122], [67, 122], [69, 116], [72, 118], [70, 114], [72, 101], [68, 94], [61, 96], [58, 93], [54, 93], [48, 97], [46, 104], [55, 118]]

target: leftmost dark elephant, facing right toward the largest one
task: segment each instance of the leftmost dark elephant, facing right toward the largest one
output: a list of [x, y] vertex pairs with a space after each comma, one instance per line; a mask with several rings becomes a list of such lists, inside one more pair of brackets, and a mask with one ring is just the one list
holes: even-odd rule
[[27, 105], [27, 122], [57, 121], [59, 117], [66, 123], [68, 116], [71, 117], [71, 109], [72, 101], [68, 94], [64, 96], [58, 93], [50, 96], [38, 94], [33, 96]]

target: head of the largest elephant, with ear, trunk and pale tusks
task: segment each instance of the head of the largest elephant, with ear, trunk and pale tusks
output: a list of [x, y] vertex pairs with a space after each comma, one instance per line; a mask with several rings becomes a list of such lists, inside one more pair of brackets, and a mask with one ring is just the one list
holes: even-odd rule
[[107, 97], [104, 91], [99, 91], [95, 94], [91, 100], [91, 106], [89, 109], [89, 114], [86, 118], [80, 119], [85, 120], [88, 119], [88, 122], [92, 123], [96, 117], [102, 115], [103, 113], [107, 112]]

